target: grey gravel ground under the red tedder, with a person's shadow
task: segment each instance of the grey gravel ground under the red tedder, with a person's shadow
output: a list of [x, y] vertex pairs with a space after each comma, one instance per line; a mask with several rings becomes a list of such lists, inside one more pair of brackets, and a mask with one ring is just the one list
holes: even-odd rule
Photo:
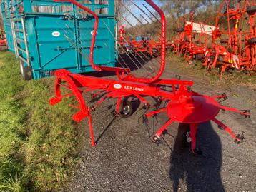
[[[168, 71], [168, 66], [166, 71]], [[167, 143], [157, 146], [149, 138], [147, 128], [138, 122], [144, 112], [134, 113], [129, 118], [113, 120], [107, 110], [113, 100], [103, 103], [92, 114], [97, 146], [91, 147], [87, 121], [81, 123], [83, 141], [82, 159], [77, 164], [72, 181], [66, 191], [256, 191], [256, 107], [255, 87], [230, 87], [225, 90], [209, 86], [205, 79], [197, 79], [179, 73], [182, 79], [195, 81], [193, 91], [200, 94], [220, 94], [229, 97], [222, 104], [240, 109], [250, 109], [250, 119], [237, 113], [220, 113], [217, 118], [232, 128], [235, 133], [245, 133], [245, 142], [237, 145], [215, 123], [200, 125], [197, 146], [202, 156], [192, 156], [189, 148], [182, 147], [174, 137], [178, 123], [168, 128]], [[164, 77], [170, 78], [169, 74]], [[239, 97], [232, 97], [234, 93]], [[141, 108], [141, 106], [139, 107]], [[155, 128], [167, 121], [164, 114], [158, 116]], [[153, 124], [149, 121], [150, 125]], [[151, 126], [150, 133], [153, 127]]]

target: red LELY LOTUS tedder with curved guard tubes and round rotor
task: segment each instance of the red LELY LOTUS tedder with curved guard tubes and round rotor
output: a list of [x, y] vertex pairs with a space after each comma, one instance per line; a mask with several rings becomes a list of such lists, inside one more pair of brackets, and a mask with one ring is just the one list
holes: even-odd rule
[[[159, 28], [161, 29], [161, 32], [159, 32], [159, 38], [161, 39], [161, 54], [157, 59], [150, 57], [150, 60], [147, 60], [149, 63], [154, 62], [154, 67], [141, 65], [138, 70], [129, 69], [129, 64], [125, 63], [126, 61], [124, 58], [122, 58], [122, 55], [119, 55], [121, 58], [119, 60], [119, 64], [121, 64], [122, 67], [99, 66], [94, 64], [94, 57], [100, 56], [94, 55], [94, 50], [97, 49], [97, 46], [95, 46], [95, 39], [97, 39], [97, 36], [101, 35], [98, 33], [100, 26], [98, 23], [99, 19], [97, 14], [90, 10], [89, 7], [79, 4], [78, 1], [54, 1], [68, 1], [73, 6], [77, 6], [83, 10], [81, 11], [81, 13], [84, 14], [83, 19], [94, 21], [94, 29], [92, 31], [89, 56], [86, 56], [85, 54], [84, 56], [89, 59], [92, 69], [95, 71], [112, 71], [117, 76], [117, 78], [107, 79], [106, 77], [73, 74], [66, 69], [59, 69], [54, 71], [54, 75], [56, 76], [55, 96], [49, 100], [49, 103], [54, 106], [56, 103], [61, 102], [63, 98], [74, 96], [77, 99], [77, 105], [70, 104], [70, 106], [77, 108], [77, 113], [75, 113], [72, 118], [77, 122], [82, 121], [84, 118], [88, 119], [92, 146], [95, 146], [96, 143], [94, 141], [94, 129], [92, 127], [91, 112], [106, 99], [113, 98], [117, 100], [114, 116], [130, 116], [133, 112], [132, 100], [129, 99], [131, 97], [135, 97], [144, 103], [143, 108], [145, 109], [152, 108], [152, 106], [155, 105], [155, 103], [150, 103], [148, 101], [148, 97], [155, 98], [155, 101], [158, 104], [165, 103], [163, 106], [159, 104], [159, 106], [162, 107], [158, 107], [149, 113], [145, 112], [142, 116], [144, 123], [147, 123], [148, 118], [155, 116], [157, 113], [166, 113], [168, 116], [167, 122], [162, 127], [160, 127], [152, 137], [152, 141], [155, 143], [161, 143], [162, 133], [164, 133], [168, 126], [170, 126], [173, 122], [186, 123], [189, 124], [189, 131], [187, 136], [191, 138], [191, 151], [192, 153], [197, 154], [199, 153], [199, 150], [196, 147], [197, 126], [200, 123], [207, 121], [213, 121], [217, 123], [217, 125], [222, 127], [223, 130], [227, 131], [227, 133], [229, 133], [237, 143], [240, 143], [242, 140], [241, 136], [235, 136], [235, 133], [233, 133], [228, 126], [217, 120], [216, 116], [221, 110], [225, 110], [237, 112], [242, 116], [245, 116], [245, 118], [249, 118], [249, 111], [239, 111], [235, 108], [220, 105], [220, 103], [218, 103], [220, 99], [227, 99], [225, 94], [220, 94], [217, 96], [206, 96], [192, 91], [192, 81], [182, 81], [179, 79], [161, 79], [161, 76], [164, 72], [166, 59], [166, 20], [163, 11], [157, 6], [157, 4], [154, 4], [152, 0], [145, 0], [143, 6], [147, 7], [147, 10], [144, 10], [142, 14], [157, 12], [161, 18], [158, 20], [157, 16], [154, 16], [154, 22], [158, 22]], [[109, 28], [111, 27], [112, 26], [109, 26]], [[88, 33], [91, 32], [90, 30], [88, 31]], [[113, 38], [115, 39], [114, 34]], [[75, 39], [69, 39], [69, 41], [72, 43], [72, 41], [75, 41]], [[115, 41], [118, 44], [118, 39], [115, 39]], [[126, 40], [124, 39], [124, 41]], [[79, 46], [76, 46], [76, 49], [79, 49]], [[147, 56], [129, 56], [131, 57], [131, 61], [134, 62], [137, 60], [142, 61], [143, 59], [147, 59]], [[158, 69], [155, 68], [156, 66], [158, 66]], [[135, 75], [136, 71], [142, 69], [147, 71], [148, 74], [145, 74], [144, 76]], [[94, 99], [99, 98], [94, 106], [88, 106], [83, 96], [83, 94], [87, 94], [91, 91], [93, 91], [92, 97]]]

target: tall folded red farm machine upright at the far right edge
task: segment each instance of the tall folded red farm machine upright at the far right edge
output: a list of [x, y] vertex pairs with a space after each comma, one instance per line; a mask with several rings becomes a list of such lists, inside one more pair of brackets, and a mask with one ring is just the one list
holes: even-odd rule
[[[216, 18], [216, 28], [212, 36], [212, 49], [207, 53], [204, 66], [208, 69], [221, 66], [220, 76], [227, 68], [238, 70], [255, 70], [255, 2], [249, 1], [236, 8], [231, 1], [223, 1]], [[222, 13], [224, 9], [224, 12]], [[248, 19], [249, 17], [249, 19]], [[220, 20], [225, 19], [227, 30], [220, 26]], [[244, 26], [240, 26], [244, 23]], [[247, 27], [250, 26], [250, 27]], [[227, 39], [225, 39], [227, 37]], [[217, 42], [220, 39], [220, 43]]]

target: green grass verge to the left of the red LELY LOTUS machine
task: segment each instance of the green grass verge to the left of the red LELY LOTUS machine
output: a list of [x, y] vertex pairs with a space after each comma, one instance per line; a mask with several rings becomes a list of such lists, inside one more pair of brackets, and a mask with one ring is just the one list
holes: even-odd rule
[[57, 191], [77, 161], [72, 109], [52, 107], [54, 79], [23, 81], [19, 61], [0, 52], [0, 191]]

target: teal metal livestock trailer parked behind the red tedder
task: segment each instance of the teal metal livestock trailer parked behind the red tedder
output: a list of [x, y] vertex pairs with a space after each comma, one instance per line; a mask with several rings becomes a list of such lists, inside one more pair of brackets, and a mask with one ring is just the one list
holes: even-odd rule
[[[89, 1], [88, 1], [89, 2]], [[114, 1], [82, 3], [99, 16], [94, 50], [97, 66], [114, 66], [117, 58], [114, 34]], [[73, 73], [94, 71], [89, 54], [94, 17], [84, 16], [79, 6], [47, 0], [3, 0], [1, 15], [9, 51], [20, 59], [24, 79], [53, 75], [56, 69]], [[109, 27], [109, 29], [107, 29]], [[87, 33], [90, 31], [90, 33]], [[67, 41], [68, 40], [68, 41]], [[74, 45], [72, 45], [74, 44]]]

